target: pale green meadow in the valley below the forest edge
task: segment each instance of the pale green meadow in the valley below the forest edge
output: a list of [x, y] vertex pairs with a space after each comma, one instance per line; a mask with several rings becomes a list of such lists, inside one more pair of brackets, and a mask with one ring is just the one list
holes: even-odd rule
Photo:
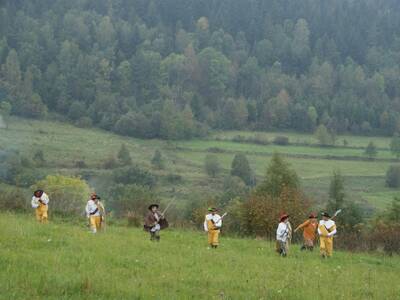
[[[276, 136], [287, 136], [296, 145], [256, 145], [231, 141], [236, 135], [261, 136], [272, 141]], [[340, 145], [346, 140], [348, 147]], [[135, 163], [151, 168], [150, 160], [156, 149], [160, 149], [166, 162], [165, 170], [152, 170], [161, 178], [178, 174], [183, 179], [175, 184], [176, 196], [185, 201], [197, 195], [212, 197], [221, 189], [222, 179], [229, 174], [232, 159], [236, 153], [245, 153], [258, 179], [265, 174], [266, 167], [274, 152], [282, 153], [299, 174], [303, 187], [315, 204], [323, 205], [328, 198], [329, 177], [334, 170], [340, 170], [346, 178], [347, 197], [368, 206], [369, 209], [384, 209], [399, 190], [385, 187], [384, 176], [389, 165], [396, 162], [389, 151], [390, 138], [338, 136], [340, 147], [317, 147], [317, 141], [310, 134], [290, 132], [250, 133], [216, 132], [207, 139], [167, 142], [141, 140], [123, 137], [100, 129], [82, 129], [69, 124], [12, 118], [7, 130], [0, 130], [0, 150], [16, 149], [32, 156], [41, 149], [44, 152], [47, 173], [86, 174], [92, 177], [109, 172], [103, 167], [104, 161], [115, 156], [121, 144], [126, 144]], [[373, 141], [379, 148], [374, 160], [367, 160], [365, 147]], [[299, 145], [301, 144], [301, 145]], [[361, 147], [361, 148], [360, 148]], [[210, 179], [204, 172], [204, 158], [218, 149], [215, 155], [222, 167], [217, 179]], [[77, 168], [77, 162], [84, 161], [84, 169]], [[163, 180], [158, 185], [161, 197], [170, 196], [171, 186]]]

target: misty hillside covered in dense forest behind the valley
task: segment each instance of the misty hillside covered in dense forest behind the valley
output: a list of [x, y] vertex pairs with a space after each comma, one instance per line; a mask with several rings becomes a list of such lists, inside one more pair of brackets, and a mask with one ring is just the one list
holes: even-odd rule
[[0, 0], [3, 114], [136, 137], [392, 135], [398, 0]]

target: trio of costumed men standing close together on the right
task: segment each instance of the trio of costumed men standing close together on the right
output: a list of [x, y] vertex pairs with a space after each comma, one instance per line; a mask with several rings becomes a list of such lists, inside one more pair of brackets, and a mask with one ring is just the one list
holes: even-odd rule
[[[319, 235], [320, 253], [323, 258], [331, 257], [333, 253], [333, 237], [336, 234], [336, 223], [326, 212], [322, 213], [322, 219], [318, 222], [317, 216], [311, 213], [308, 220], [296, 227], [294, 232], [303, 230], [303, 245], [301, 250], [314, 249]], [[289, 215], [284, 214], [276, 230], [276, 249], [281, 256], [288, 254], [289, 245], [292, 239], [292, 226], [289, 222]]]

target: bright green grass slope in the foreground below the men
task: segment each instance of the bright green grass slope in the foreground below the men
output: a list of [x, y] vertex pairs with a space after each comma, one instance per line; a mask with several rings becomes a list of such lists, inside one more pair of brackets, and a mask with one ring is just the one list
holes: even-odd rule
[[[82, 224], [83, 224], [82, 220]], [[166, 230], [159, 244], [140, 229], [0, 215], [0, 299], [399, 299], [400, 257], [335, 252], [321, 260], [292, 245]]]

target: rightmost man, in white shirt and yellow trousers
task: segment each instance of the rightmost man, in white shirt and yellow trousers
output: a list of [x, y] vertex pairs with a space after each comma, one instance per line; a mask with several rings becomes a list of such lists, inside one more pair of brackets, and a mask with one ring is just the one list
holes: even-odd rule
[[336, 234], [335, 221], [328, 213], [322, 213], [322, 220], [318, 224], [320, 252], [323, 258], [331, 257], [333, 252], [333, 236]]

